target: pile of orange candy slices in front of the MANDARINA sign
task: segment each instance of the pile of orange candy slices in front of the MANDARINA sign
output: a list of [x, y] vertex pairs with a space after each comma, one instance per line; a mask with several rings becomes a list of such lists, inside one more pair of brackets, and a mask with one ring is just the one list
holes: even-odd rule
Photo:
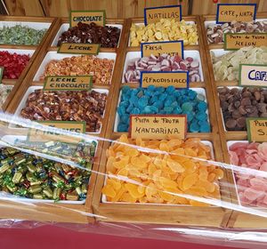
[[142, 141], [123, 135], [106, 155], [102, 194], [109, 202], [205, 206], [177, 194], [220, 198], [223, 171], [205, 161], [211, 159], [210, 148], [197, 138]]

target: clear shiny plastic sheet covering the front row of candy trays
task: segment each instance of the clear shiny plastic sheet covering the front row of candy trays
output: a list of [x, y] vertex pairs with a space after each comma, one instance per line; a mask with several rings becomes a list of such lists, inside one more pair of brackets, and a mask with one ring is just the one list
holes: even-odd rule
[[4, 113], [0, 121], [1, 228], [266, 248], [267, 172], [256, 167], [266, 144], [245, 167], [216, 162], [215, 148], [192, 138], [109, 140]]

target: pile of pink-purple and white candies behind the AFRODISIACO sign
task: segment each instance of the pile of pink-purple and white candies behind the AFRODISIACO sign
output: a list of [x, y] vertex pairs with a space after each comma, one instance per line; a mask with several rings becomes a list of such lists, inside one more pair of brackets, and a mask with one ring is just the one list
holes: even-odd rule
[[200, 81], [199, 62], [191, 57], [184, 60], [179, 55], [170, 56], [162, 54], [160, 56], [142, 57], [130, 60], [125, 72], [125, 83], [139, 82], [142, 71], [189, 71], [190, 82]]

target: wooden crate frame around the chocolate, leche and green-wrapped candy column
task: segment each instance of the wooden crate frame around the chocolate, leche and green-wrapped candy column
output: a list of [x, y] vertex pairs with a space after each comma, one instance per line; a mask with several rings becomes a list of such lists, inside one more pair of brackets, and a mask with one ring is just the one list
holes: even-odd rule
[[[18, 107], [20, 100], [22, 99], [23, 95], [27, 91], [28, 87], [31, 85], [43, 85], [42, 82], [34, 82], [33, 78], [36, 74], [36, 70], [41, 64], [42, 60], [44, 59], [44, 56], [46, 52], [56, 50], [56, 47], [50, 47], [50, 45], [53, 42], [53, 37], [56, 35], [58, 28], [61, 27], [61, 21], [58, 20], [56, 25], [54, 26], [53, 30], [49, 34], [49, 38], [46, 40], [46, 43], [44, 46], [40, 49], [40, 52], [38, 53], [38, 56], [36, 60], [34, 61], [31, 69], [28, 71], [28, 75], [25, 77], [25, 79], [20, 84], [20, 88], [17, 92], [15, 92], [14, 98], [10, 102], [7, 110], [10, 113], [14, 113], [16, 108]], [[67, 21], [67, 19], [65, 19]], [[108, 23], [110, 21], [116, 21], [117, 23], [123, 24], [122, 34], [121, 34], [121, 41], [124, 41], [125, 39], [125, 27], [126, 27], [126, 20], [108, 20]], [[109, 98], [107, 100], [107, 105], [105, 109], [105, 117], [102, 120], [102, 129], [101, 134], [95, 135], [95, 140], [98, 140], [98, 150], [95, 157], [95, 162], [93, 164], [93, 173], [91, 175], [91, 179], [89, 182], [89, 188], [87, 193], [87, 198], [85, 205], [62, 205], [62, 204], [35, 204], [35, 206], [29, 206], [24, 204], [18, 204], [14, 203], [12, 201], [1, 201], [0, 206], [1, 210], [1, 218], [5, 219], [22, 219], [22, 220], [35, 220], [35, 221], [58, 221], [58, 222], [72, 222], [72, 223], [87, 223], [87, 222], [93, 222], [94, 216], [93, 216], [93, 210], [92, 210], [92, 198], [93, 198], [93, 191], [95, 187], [95, 181], [96, 177], [99, 171], [99, 165], [101, 160], [101, 153], [103, 149], [103, 137], [106, 132], [106, 125], [108, 124], [109, 120], [109, 108], [111, 106], [111, 100], [112, 100], [112, 94], [113, 89], [116, 86], [116, 84], [119, 85], [119, 82], [117, 82], [117, 72], [119, 72], [120, 67], [120, 54], [121, 50], [124, 50], [125, 44], [122, 42], [121, 45], [114, 49], [112, 52], [117, 52], [117, 60], [114, 66], [114, 74], [111, 80], [111, 84], [109, 86], [99, 86], [99, 85], [93, 85], [97, 88], [103, 88], [109, 90]], [[110, 50], [107, 49], [101, 49], [101, 52], [110, 52]], [[18, 135], [21, 134], [27, 134], [27, 130], [24, 129], [17, 129], [13, 131], [6, 131], [5, 133], [17, 133]], [[2, 208], [3, 206], [3, 208]], [[15, 212], [16, 210], [20, 209], [21, 212]]]

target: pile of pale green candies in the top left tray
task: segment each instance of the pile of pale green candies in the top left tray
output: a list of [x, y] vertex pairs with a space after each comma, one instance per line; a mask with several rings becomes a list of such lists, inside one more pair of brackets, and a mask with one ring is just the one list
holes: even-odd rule
[[21, 25], [3, 27], [0, 28], [0, 44], [38, 45], [46, 30]]

